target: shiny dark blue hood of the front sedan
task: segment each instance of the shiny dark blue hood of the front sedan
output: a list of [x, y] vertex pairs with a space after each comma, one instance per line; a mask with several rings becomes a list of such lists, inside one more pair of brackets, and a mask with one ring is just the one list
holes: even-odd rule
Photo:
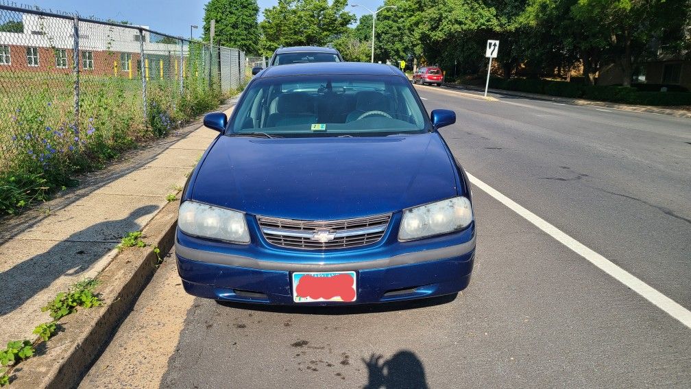
[[220, 136], [191, 199], [254, 215], [347, 219], [457, 194], [436, 133], [354, 138]]

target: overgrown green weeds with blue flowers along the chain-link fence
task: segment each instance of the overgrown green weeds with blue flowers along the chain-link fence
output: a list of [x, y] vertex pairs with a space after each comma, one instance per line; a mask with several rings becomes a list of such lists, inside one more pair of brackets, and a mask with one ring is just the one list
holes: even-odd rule
[[75, 174], [102, 168], [138, 143], [218, 107], [223, 98], [207, 78], [186, 78], [182, 93], [176, 80], [151, 80], [144, 117], [141, 80], [84, 76], [79, 123], [74, 123], [71, 75], [36, 82], [21, 75], [1, 77], [17, 91], [0, 100], [0, 117], [8, 118], [0, 122], [0, 215], [75, 185]]

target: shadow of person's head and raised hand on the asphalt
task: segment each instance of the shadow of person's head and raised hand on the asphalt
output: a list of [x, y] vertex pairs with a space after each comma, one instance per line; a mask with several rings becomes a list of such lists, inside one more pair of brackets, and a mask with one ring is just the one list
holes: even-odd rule
[[362, 359], [368, 371], [368, 383], [363, 389], [426, 389], [427, 379], [422, 361], [414, 352], [399, 351], [381, 362], [384, 356], [372, 354]]

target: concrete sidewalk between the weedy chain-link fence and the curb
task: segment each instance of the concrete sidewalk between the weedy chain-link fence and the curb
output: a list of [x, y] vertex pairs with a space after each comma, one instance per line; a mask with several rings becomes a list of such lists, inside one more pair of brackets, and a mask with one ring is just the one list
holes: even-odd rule
[[[230, 107], [221, 109], [228, 114]], [[0, 344], [33, 339], [32, 330], [50, 321], [41, 307], [100, 273], [122, 236], [141, 230], [167, 194], [179, 198], [177, 188], [216, 135], [197, 121], [77, 177], [80, 185], [56, 199], [0, 219]]]

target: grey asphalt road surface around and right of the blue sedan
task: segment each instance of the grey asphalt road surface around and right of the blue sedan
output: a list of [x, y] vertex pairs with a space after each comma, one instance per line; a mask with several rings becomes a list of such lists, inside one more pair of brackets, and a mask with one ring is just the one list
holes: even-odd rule
[[[691, 121], [419, 87], [456, 158], [691, 307]], [[168, 257], [82, 388], [686, 388], [691, 329], [478, 188], [470, 286], [352, 309], [191, 298]]]

